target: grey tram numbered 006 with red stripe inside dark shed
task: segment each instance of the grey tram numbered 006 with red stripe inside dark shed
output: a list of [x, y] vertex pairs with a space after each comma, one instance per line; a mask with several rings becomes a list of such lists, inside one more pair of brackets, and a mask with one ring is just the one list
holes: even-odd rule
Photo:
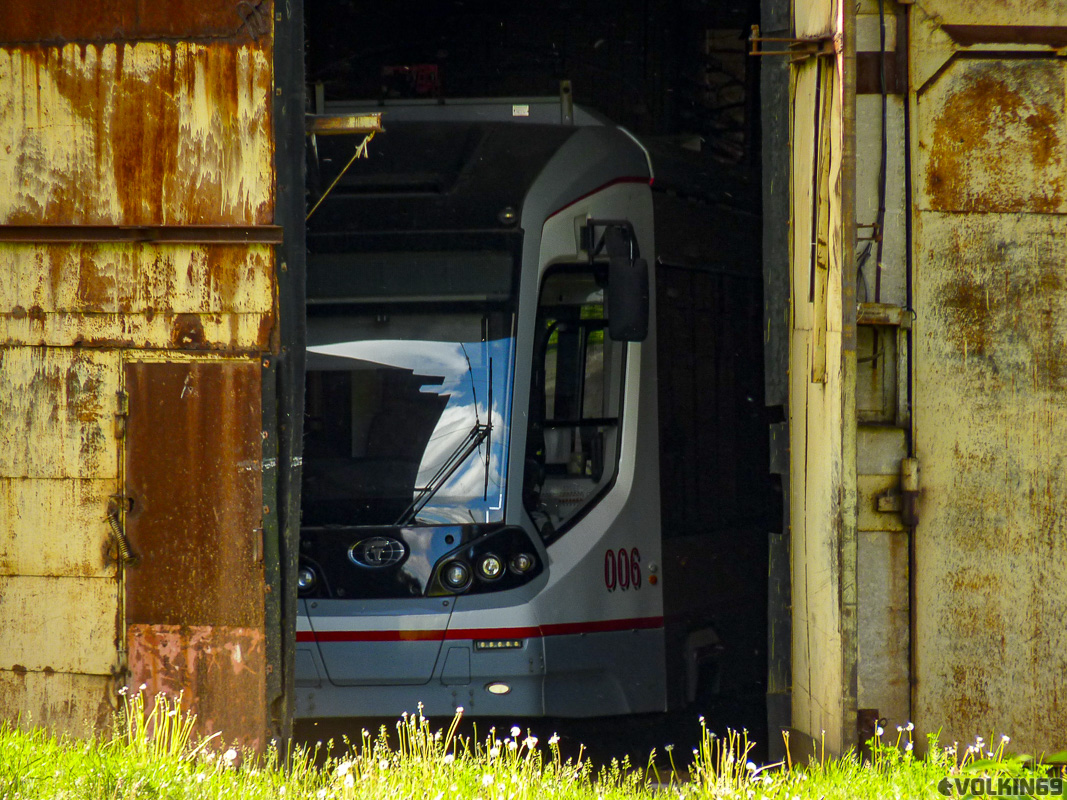
[[298, 717], [637, 714], [758, 675], [747, 190], [559, 100], [384, 111], [344, 174], [362, 137], [308, 147]]

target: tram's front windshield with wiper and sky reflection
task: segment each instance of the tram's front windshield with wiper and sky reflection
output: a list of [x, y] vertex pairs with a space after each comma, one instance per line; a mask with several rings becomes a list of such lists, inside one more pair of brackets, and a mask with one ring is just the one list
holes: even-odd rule
[[303, 524], [504, 518], [513, 315], [308, 319]]

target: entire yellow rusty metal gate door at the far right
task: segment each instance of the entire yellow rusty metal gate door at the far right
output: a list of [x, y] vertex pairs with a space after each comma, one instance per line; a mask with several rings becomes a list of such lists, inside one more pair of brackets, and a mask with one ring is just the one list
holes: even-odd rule
[[1067, 3], [910, 10], [915, 723], [1067, 747]]

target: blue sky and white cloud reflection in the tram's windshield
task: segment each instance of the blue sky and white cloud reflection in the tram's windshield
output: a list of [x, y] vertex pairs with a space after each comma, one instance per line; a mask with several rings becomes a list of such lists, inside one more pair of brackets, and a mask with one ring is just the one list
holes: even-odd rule
[[[428, 383], [421, 387], [424, 393], [447, 397], [448, 404], [423, 453], [416, 479], [417, 489], [429, 484], [441, 465], [462, 446], [478, 422], [485, 425], [489, 421], [492, 364], [492, 432], [444, 481], [418, 514], [418, 522], [445, 524], [503, 519], [508, 448], [507, 417], [511, 407], [512, 343], [512, 339], [465, 343], [381, 339], [317, 345], [307, 350], [309, 353], [380, 364], [412, 370], [417, 375], [441, 379], [440, 384]], [[488, 489], [487, 446], [490, 455]]]

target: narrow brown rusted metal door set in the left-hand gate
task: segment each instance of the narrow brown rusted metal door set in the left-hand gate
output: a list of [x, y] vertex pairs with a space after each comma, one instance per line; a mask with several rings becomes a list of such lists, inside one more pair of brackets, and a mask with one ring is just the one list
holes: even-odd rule
[[262, 743], [260, 365], [130, 363], [126, 390], [130, 679], [185, 689], [205, 733]]

